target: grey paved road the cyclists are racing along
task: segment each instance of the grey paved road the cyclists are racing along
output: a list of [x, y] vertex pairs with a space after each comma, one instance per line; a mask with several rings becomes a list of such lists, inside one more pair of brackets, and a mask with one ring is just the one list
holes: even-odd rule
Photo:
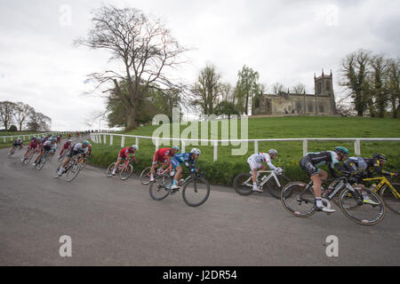
[[[0, 265], [398, 265], [400, 216], [371, 227], [337, 209], [292, 217], [268, 193], [239, 196], [212, 186], [190, 208], [181, 194], [154, 201], [137, 178], [86, 166], [72, 183], [55, 159], [32, 170], [0, 150]], [[60, 257], [60, 236], [72, 257]], [[339, 256], [326, 256], [326, 237]]]

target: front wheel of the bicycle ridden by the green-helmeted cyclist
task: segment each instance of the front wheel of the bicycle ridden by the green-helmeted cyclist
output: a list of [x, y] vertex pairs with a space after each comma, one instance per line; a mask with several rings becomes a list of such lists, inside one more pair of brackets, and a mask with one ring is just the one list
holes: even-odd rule
[[[339, 206], [341, 211], [346, 217], [348, 217], [348, 219], [360, 225], [375, 225], [380, 223], [383, 217], [385, 217], [385, 206], [383, 205], [383, 201], [380, 199], [380, 196], [377, 193], [372, 192], [370, 189], [363, 188], [363, 192], [367, 193], [369, 198], [372, 201], [377, 202], [378, 205], [372, 205], [364, 202], [358, 204], [356, 197], [353, 196], [355, 193], [351, 192], [346, 187], [339, 195]], [[347, 198], [348, 193], [350, 193], [353, 198]]]

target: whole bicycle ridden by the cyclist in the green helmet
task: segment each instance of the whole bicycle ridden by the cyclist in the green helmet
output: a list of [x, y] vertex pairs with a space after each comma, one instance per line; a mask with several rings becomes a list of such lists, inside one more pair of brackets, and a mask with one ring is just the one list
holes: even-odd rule
[[[329, 180], [328, 180], [329, 181]], [[329, 186], [331, 190], [323, 190], [322, 201], [324, 206], [331, 208], [332, 198], [339, 193], [339, 206], [345, 217], [360, 225], [376, 225], [385, 217], [385, 206], [380, 196], [369, 189], [368, 193], [372, 201], [378, 205], [364, 203], [364, 197], [360, 190], [350, 185], [356, 181], [355, 177], [338, 177], [333, 179]], [[309, 217], [316, 213], [316, 199], [313, 182], [308, 185], [302, 182], [292, 182], [284, 186], [281, 193], [281, 201], [284, 209], [287, 209], [296, 217]]]

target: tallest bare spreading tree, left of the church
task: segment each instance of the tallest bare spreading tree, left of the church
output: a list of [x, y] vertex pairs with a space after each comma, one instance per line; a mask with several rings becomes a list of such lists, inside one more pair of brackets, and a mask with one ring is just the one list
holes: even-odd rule
[[[180, 46], [161, 20], [138, 9], [102, 6], [94, 12], [92, 25], [89, 36], [75, 43], [111, 51], [110, 59], [122, 63], [121, 70], [93, 73], [90, 77], [98, 83], [95, 90], [108, 85], [108, 91], [113, 91], [124, 105], [127, 128], [135, 128], [150, 89], [176, 88], [166, 72], [182, 63], [180, 55], [187, 49]], [[120, 82], [126, 82], [127, 96]]]

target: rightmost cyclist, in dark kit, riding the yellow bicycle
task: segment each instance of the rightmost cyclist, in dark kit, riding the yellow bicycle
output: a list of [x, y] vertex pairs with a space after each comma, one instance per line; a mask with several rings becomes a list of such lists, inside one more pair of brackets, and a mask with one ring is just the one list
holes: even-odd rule
[[363, 178], [372, 177], [373, 173], [376, 173], [378, 176], [397, 176], [397, 173], [391, 173], [390, 171], [383, 170], [386, 160], [387, 159], [384, 154], [373, 154], [372, 158], [349, 157], [348, 160], [344, 162], [344, 167], [346, 170], [352, 172], [357, 178], [356, 183], [359, 187], [361, 187], [361, 193], [363, 193], [365, 203], [378, 205], [377, 202], [372, 201], [368, 194], [363, 191], [365, 186]]

